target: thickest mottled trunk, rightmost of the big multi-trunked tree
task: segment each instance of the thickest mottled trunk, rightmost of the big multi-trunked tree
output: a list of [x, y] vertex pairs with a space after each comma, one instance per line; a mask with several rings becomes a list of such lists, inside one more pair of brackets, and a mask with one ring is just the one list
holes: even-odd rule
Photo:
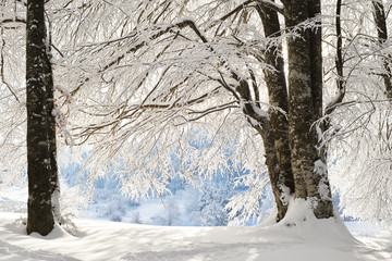
[[[287, 28], [293, 28], [319, 12], [319, 0], [284, 1]], [[321, 28], [302, 29], [287, 39], [289, 133], [295, 197], [315, 200], [315, 215], [333, 216], [331, 190], [323, 156], [317, 150], [313, 124], [322, 115]]]

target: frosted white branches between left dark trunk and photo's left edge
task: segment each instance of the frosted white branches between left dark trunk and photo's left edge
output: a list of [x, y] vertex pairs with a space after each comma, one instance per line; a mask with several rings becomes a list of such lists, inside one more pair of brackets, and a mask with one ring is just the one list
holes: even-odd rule
[[[2, 1], [1, 8], [1, 154], [3, 185], [20, 182], [26, 169], [25, 132], [25, 8]], [[22, 76], [21, 76], [22, 75]]]

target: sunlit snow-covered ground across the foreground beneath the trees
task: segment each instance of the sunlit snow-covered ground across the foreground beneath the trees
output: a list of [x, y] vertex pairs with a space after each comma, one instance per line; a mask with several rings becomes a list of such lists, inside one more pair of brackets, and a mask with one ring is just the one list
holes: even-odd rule
[[[392, 235], [353, 237], [333, 219], [295, 225], [168, 227], [75, 220], [47, 237], [26, 235], [17, 213], [0, 213], [0, 260], [391, 261]], [[360, 226], [353, 226], [354, 231]]]

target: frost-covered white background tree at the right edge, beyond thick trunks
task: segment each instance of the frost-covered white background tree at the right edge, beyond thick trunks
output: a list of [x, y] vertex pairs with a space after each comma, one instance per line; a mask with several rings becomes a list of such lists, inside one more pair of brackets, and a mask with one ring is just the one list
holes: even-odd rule
[[332, 121], [332, 182], [344, 214], [388, 223], [391, 176], [391, 44], [388, 1], [342, 5], [345, 99]]

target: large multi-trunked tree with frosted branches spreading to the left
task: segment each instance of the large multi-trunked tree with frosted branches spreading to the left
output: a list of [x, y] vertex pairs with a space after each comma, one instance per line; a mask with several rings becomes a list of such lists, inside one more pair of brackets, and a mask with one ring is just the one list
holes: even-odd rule
[[[198, 7], [197, 12], [195, 7]], [[125, 8], [118, 9], [126, 13]], [[187, 9], [193, 10], [193, 15], [208, 15], [196, 20], [179, 18], [188, 12]], [[87, 128], [76, 127], [74, 132], [81, 142], [89, 137], [100, 140], [93, 153], [98, 160], [94, 165], [102, 165], [108, 156], [123, 157], [125, 145], [134, 144], [140, 148], [136, 149], [138, 152], [142, 148], [150, 148], [136, 159], [152, 162], [157, 157], [160, 160], [154, 161], [154, 166], [140, 163], [128, 171], [140, 173], [147, 169], [144, 174], [149, 178], [156, 173], [164, 179], [164, 175], [158, 173], [163, 172], [162, 165], [170, 165], [169, 160], [152, 151], [170, 147], [170, 142], [176, 144], [175, 139], [179, 144], [184, 132], [188, 132], [185, 129], [189, 129], [181, 126], [201, 123], [210, 114], [222, 115], [223, 114], [228, 119], [241, 112], [264, 141], [279, 210], [277, 220], [284, 217], [291, 197], [313, 201], [317, 217], [332, 216], [326, 154], [324, 150], [318, 150], [315, 127], [315, 122], [323, 116], [320, 2], [283, 1], [281, 5], [273, 1], [246, 1], [233, 7], [232, 3], [192, 5], [188, 1], [180, 1], [174, 7], [171, 2], [159, 1], [140, 2], [138, 10], [143, 12], [136, 22], [126, 21], [121, 29], [111, 30], [110, 39], [86, 45], [72, 55], [72, 59], [83, 58], [85, 67], [89, 66], [88, 71], [95, 73], [74, 83], [77, 87], [70, 92], [83, 97], [91, 92], [89, 86], [93, 84], [102, 86], [101, 97], [90, 96], [95, 104], [88, 104], [86, 111], [89, 120], [96, 122]], [[283, 35], [278, 13], [285, 21], [287, 33]], [[252, 27], [254, 23], [260, 25], [260, 21], [264, 29]], [[283, 38], [287, 40], [287, 86], [281, 51]], [[110, 59], [103, 61], [100, 59], [103, 55]], [[72, 59], [68, 62], [77, 63]], [[128, 74], [130, 70], [135, 77]], [[126, 77], [119, 77], [122, 74]], [[269, 104], [260, 100], [265, 89], [269, 92]], [[269, 113], [266, 109], [270, 109]], [[219, 132], [226, 125], [225, 120]], [[175, 126], [182, 130], [173, 130]], [[164, 139], [167, 141], [162, 141]], [[180, 141], [179, 146], [183, 145]], [[262, 151], [260, 146], [257, 150]], [[121, 162], [124, 163], [124, 158]], [[134, 175], [125, 175], [126, 186], [135, 188], [133, 178]], [[146, 189], [149, 186], [147, 184]]]

